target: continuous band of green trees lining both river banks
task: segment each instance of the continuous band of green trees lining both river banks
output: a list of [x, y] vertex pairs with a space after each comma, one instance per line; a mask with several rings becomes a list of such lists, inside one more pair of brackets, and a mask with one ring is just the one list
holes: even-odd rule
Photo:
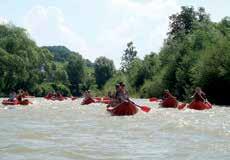
[[25, 29], [0, 24], [0, 97], [19, 89], [39, 97], [50, 91], [80, 96], [85, 90], [104, 96], [120, 81], [136, 98], [161, 97], [169, 89], [188, 101], [200, 86], [210, 102], [229, 105], [230, 17], [212, 22], [204, 8], [182, 6], [169, 17], [159, 53], [140, 59], [128, 42], [119, 70], [106, 57], [91, 62], [64, 46], [38, 47]]

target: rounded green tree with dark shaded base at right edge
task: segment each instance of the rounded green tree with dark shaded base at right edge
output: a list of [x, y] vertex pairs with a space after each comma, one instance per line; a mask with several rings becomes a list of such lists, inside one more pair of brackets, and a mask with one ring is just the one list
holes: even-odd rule
[[219, 40], [215, 46], [204, 51], [198, 64], [193, 67], [192, 77], [195, 86], [201, 86], [211, 101], [217, 104], [230, 104], [230, 43]]

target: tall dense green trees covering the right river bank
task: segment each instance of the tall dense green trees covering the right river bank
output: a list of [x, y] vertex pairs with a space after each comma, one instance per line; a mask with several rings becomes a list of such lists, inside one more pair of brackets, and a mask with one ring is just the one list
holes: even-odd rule
[[[169, 89], [177, 98], [189, 100], [196, 86], [217, 104], [230, 104], [230, 19], [211, 22], [204, 8], [182, 7], [170, 16], [168, 38], [153, 57], [151, 78], [141, 88], [142, 96], [160, 96]], [[147, 65], [146, 59], [143, 64]]]

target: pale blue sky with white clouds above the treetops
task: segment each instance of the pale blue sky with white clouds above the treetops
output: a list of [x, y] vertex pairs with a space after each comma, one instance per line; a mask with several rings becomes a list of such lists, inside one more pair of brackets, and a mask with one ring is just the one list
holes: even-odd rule
[[229, 0], [0, 0], [0, 23], [25, 28], [38, 46], [64, 45], [119, 67], [130, 41], [140, 58], [159, 52], [168, 17], [183, 5], [204, 7], [216, 22], [230, 16]]

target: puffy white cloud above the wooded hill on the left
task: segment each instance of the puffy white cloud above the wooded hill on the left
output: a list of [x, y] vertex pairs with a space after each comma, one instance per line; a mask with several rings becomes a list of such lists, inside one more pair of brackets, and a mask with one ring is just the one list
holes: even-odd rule
[[67, 24], [57, 7], [33, 7], [25, 16], [24, 24], [38, 45], [65, 45], [80, 53], [88, 52], [85, 40]]

